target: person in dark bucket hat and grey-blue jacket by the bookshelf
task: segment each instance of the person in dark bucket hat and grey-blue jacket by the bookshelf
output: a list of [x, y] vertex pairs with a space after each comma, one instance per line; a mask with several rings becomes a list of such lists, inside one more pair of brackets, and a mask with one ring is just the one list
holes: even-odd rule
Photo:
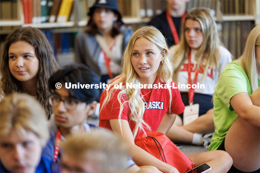
[[133, 30], [122, 22], [116, 0], [96, 0], [88, 15], [87, 29], [76, 36], [75, 61], [109, 83], [120, 71], [122, 52]]

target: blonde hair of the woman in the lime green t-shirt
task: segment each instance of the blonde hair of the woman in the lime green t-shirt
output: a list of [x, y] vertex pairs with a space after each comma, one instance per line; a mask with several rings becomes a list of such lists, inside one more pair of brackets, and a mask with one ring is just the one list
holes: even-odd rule
[[260, 46], [260, 25], [255, 26], [249, 33], [246, 40], [244, 53], [241, 55], [241, 57], [239, 57], [239, 59], [236, 60], [241, 60], [240, 65], [244, 69], [250, 82], [251, 93], [258, 88], [257, 68], [260, 67], [258, 67], [257, 59], [255, 56], [255, 52], [258, 46]]

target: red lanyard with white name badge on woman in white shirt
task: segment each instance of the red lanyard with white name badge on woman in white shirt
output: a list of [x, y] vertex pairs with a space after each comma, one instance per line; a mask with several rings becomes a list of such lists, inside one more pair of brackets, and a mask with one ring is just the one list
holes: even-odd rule
[[[203, 57], [202, 57], [202, 61], [203, 61]], [[199, 72], [199, 67], [198, 67], [198, 69], [196, 69], [196, 73], [195, 73], [194, 80], [192, 83], [192, 80], [191, 80], [191, 50], [190, 50], [189, 56], [188, 56], [188, 82], [189, 82], [190, 86], [192, 86], [192, 84], [196, 84], [197, 78], [198, 78], [198, 72]], [[183, 125], [189, 124], [198, 118], [199, 104], [193, 104], [194, 94], [195, 94], [194, 88], [191, 87], [188, 91], [190, 105], [185, 106], [185, 110], [183, 111]]]

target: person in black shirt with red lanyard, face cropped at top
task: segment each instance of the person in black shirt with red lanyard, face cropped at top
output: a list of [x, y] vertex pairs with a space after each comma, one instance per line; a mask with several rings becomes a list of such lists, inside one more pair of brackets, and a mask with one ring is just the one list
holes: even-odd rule
[[162, 14], [155, 16], [147, 25], [159, 29], [166, 38], [168, 47], [179, 44], [181, 23], [186, 15], [186, 3], [189, 0], [167, 0], [168, 7]]

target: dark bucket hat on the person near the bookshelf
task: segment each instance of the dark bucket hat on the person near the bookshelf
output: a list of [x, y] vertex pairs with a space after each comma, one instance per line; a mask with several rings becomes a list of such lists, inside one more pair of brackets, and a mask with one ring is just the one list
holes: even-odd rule
[[118, 14], [118, 18], [121, 19], [121, 14], [118, 11], [118, 5], [117, 5], [117, 0], [96, 0], [94, 5], [90, 7], [88, 15], [92, 16], [94, 13], [95, 8], [107, 8], [110, 10], [113, 10]]

